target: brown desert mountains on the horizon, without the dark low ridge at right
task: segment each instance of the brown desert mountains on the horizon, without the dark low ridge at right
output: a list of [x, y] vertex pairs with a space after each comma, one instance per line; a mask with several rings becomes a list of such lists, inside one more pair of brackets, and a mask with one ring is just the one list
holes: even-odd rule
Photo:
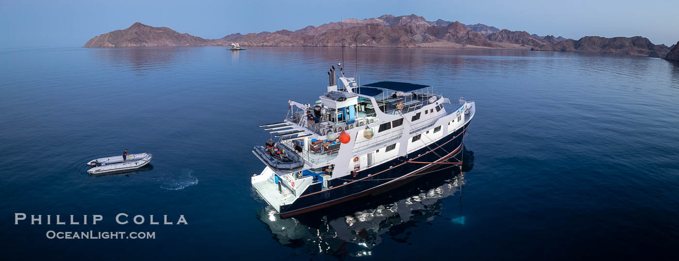
[[[320, 26], [306, 26], [297, 31], [281, 30], [227, 35], [221, 39], [202, 39], [181, 34], [166, 27], [153, 27], [139, 22], [126, 28], [94, 37], [84, 47], [130, 46], [360, 46], [360, 47], [452, 47], [452, 48], [512, 48], [528, 49], [532, 41], [511, 41], [486, 35], [500, 30], [485, 24], [465, 25], [460, 22], [437, 20], [429, 22], [422, 16], [384, 15], [364, 20], [346, 19]], [[528, 37], [530, 38], [530, 36]], [[526, 45], [528, 43], [528, 45]], [[532, 43], [532, 44], [531, 44]], [[547, 42], [545, 42], [547, 43]], [[539, 43], [543, 44], [543, 43]]]

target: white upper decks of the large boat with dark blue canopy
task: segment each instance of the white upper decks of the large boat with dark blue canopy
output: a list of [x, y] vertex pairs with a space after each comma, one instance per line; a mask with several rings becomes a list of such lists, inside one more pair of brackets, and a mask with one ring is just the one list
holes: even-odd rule
[[[267, 127], [265, 130], [270, 131], [272, 138], [280, 138], [282, 144], [297, 150], [308, 167], [318, 167], [337, 158], [340, 146], [344, 147], [337, 140], [336, 134], [340, 132], [346, 131], [352, 139], [360, 140], [356, 144], [352, 141], [353, 148], [350, 149], [350, 153], [359, 153], [403, 136], [401, 129], [390, 132], [380, 130], [378, 134], [379, 125], [405, 119], [406, 114], [423, 112], [422, 115], [426, 115], [424, 111], [431, 111], [430, 115], [426, 115], [427, 120], [409, 126], [409, 135], [415, 128], [433, 124], [435, 119], [430, 116], [436, 114], [443, 117], [447, 115], [445, 111], [451, 111], [446, 108], [439, 113], [444, 103], [449, 104], [449, 100], [434, 94], [433, 88], [428, 85], [380, 81], [359, 86], [354, 78], [342, 76], [337, 79], [339, 81], [333, 81], [331, 76], [327, 93], [319, 96], [315, 102], [289, 100], [285, 121], [261, 125]], [[426, 110], [424, 107], [427, 107]], [[433, 108], [436, 108], [436, 113], [433, 113]], [[359, 132], [363, 134], [365, 129], [373, 129], [375, 138], [366, 140], [363, 135], [357, 136]]]

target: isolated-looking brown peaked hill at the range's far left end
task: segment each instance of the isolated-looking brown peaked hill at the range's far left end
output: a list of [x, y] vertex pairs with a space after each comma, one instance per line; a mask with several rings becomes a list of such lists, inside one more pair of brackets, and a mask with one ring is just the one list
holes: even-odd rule
[[136, 22], [125, 30], [116, 30], [90, 39], [83, 47], [194, 46], [208, 40], [167, 27], [153, 27]]

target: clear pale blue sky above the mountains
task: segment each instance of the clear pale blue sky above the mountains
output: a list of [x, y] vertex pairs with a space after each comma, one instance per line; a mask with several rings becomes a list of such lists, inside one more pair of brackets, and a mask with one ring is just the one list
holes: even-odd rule
[[82, 46], [96, 35], [134, 22], [217, 39], [230, 33], [294, 31], [340, 18], [383, 14], [417, 14], [430, 21], [482, 23], [573, 39], [640, 35], [667, 46], [679, 41], [678, 0], [0, 0], [0, 47]]

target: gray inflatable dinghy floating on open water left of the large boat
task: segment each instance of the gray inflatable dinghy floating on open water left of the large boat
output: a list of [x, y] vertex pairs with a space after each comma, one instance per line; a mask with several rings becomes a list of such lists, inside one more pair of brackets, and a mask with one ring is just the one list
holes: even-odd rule
[[87, 165], [92, 167], [87, 172], [90, 174], [102, 174], [109, 172], [125, 172], [145, 166], [153, 159], [151, 153], [130, 154], [123, 162], [123, 156], [111, 156], [93, 159]]

